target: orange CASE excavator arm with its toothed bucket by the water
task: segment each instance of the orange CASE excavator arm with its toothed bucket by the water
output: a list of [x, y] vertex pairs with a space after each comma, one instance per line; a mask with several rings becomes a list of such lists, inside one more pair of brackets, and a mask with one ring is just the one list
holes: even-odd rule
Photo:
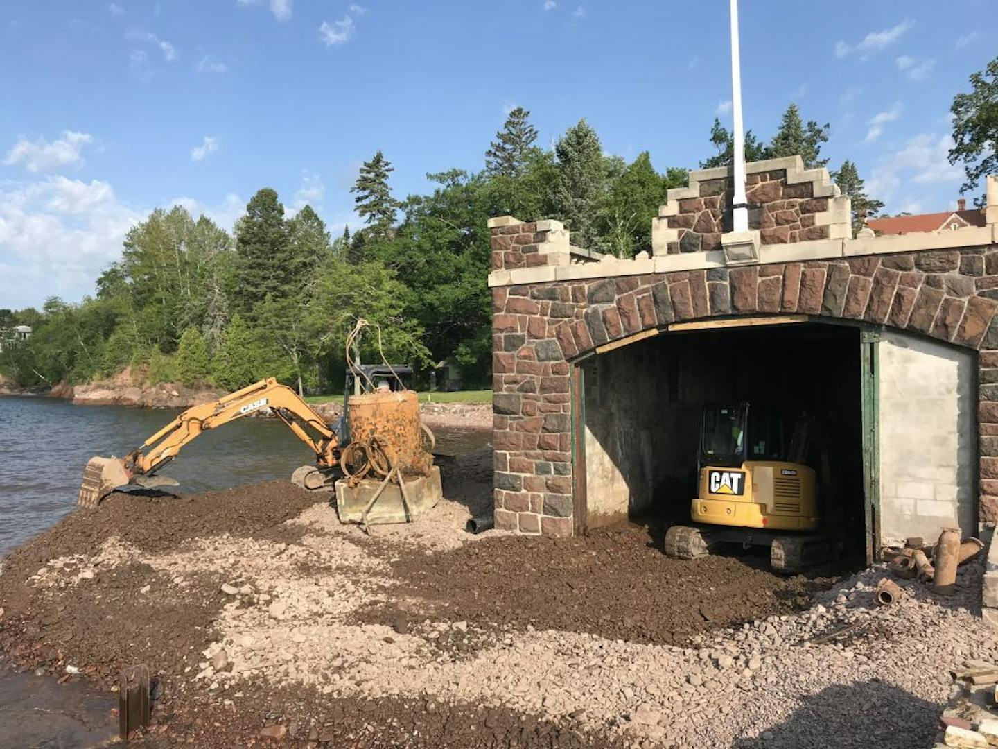
[[294, 390], [268, 377], [215, 402], [188, 408], [124, 459], [113, 456], [91, 458], [84, 469], [77, 503], [84, 507], [96, 507], [115, 488], [129, 483], [144, 486], [175, 484], [173, 479], [153, 476], [203, 431], [263, 407], [269, 408], [311, 448], [318, 467], [332, 468], [338, 463], [339, 440], [335, 431]]

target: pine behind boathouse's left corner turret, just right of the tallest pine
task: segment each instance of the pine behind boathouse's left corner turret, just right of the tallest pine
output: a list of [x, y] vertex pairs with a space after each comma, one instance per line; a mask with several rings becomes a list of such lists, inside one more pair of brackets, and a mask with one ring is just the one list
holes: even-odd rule
[[585, 119], [569, 128], [555, 145], [560, 184], [559, 213], [573, 232], [573, 241], [590, 247], [595, 240], [596, 202], [606, 182], [606, 162], [600, 138]]

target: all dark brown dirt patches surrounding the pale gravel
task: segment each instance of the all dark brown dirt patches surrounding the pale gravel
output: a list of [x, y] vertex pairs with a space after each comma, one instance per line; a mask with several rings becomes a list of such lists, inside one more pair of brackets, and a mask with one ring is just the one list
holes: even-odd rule
[[[448, 495], [476, 511], [490, 495], [491, 473], [483, 467], [490, 462], [464, 461], [451, 466], [449, 475], [445, 465]], [[192, 652], [215, 638], [212, 623], [227, 601], [221, 576], [188, 575], [184, 594], [152, 601], [147, 596], [141, 603], [138, 588], [171, 582], [158, 579], [163, 573], [141, 561], [99, 568], [93, 584], [25, 584], [48, 560], [95, 553], [113, 536], [151, 554], [225, 533], [294, 543], [302, 527], [283, 523], [315, 500], [315, 494], [287, 481], [270, 481], [196, 496], [113, 494], [97, 512], [71, 513], [3, 560], [0, 652], [22, 668], [41, 666], [54, 674], [64, 674], [67, 664], [79, 665], [105, 688], [131, 663], [145, 662], [153, 673], [166, 674], [154, 730], [145, 739], [152, 747], [250, 746], [271, 723], [286, 726], [286, 738], [298, 746], [617, 745], [605, 735], [585, 733], [571, 717], [553, 725], [510, 710], [430, 697], [364, 700], [259, 683], [225, 704], [207, 688], [179, 686]], [[696, 632], [799, 607], [826, 582], [780, 578], [762, 564], [736, 558], [670, 559], [647, 528], [633, 525], [571, 539], [498, 536], [434, 553], [387, 535], [375, 534], [365, 543], [371, 553], [390, 558], [394, 575], [405, 582], [401, 607], [372, 606], [363, 614], [391, 626], [400, 618], [415, 622], [435, 615], [486, 629], [533, 626], [683, 643]]]

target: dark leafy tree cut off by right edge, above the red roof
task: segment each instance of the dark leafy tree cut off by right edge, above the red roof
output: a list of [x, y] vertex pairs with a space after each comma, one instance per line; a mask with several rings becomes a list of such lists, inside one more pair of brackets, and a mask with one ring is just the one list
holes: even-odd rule
[[[953, 97], [954, 146], [949, 163], [963, 163], [961, 193], [976, 190], [987, 175], [998, 173], [998, 57], [970, 75], [971, 91]], [[982, 206], [982, 198], [975, 204]]]

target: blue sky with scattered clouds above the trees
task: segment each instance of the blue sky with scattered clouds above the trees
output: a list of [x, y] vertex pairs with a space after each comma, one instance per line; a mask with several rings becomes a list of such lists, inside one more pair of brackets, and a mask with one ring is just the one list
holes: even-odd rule
[[[998, 54], [998, 3], [741, 13], [747, 127], [767, 138], [794, 101], [889, 211], [955, 207], [949, 105]], [[730, 120], [728, 45], [724, 0], [4, 0], [0, 308], [92, 294], [157, 206], [230, 229], [269, 186], [342, 231], [376, 149], [419, 192], [479, 169], [516, 105], [545, 145], [586, 117], [608, 153], [695, 167]]]

